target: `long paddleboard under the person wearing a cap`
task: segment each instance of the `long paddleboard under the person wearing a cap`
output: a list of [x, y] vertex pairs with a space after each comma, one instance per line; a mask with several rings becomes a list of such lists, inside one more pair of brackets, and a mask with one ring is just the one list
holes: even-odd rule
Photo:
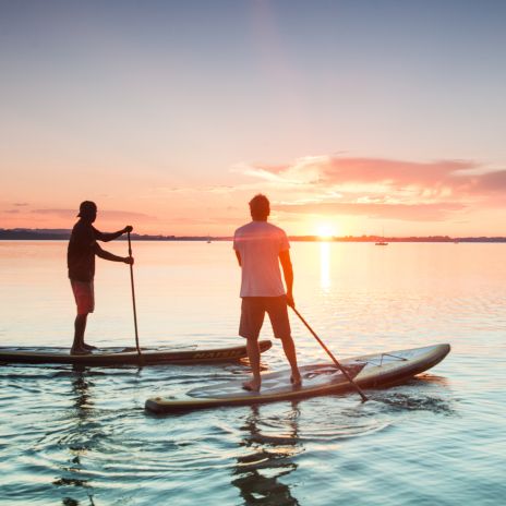
[[[260, 341], [261, 351], [272, 347], [268, 339]], [[156, 365], [162, 363], [198, 364], [225, 362], [245, 358], [245, 346], [200, 348], [136, 348], [109, 347], [93, 350], [91, 354], [70, 354], [69, 348], [58, 347], [0, 347], [0, 363], [68, 363], [93, 365]]]

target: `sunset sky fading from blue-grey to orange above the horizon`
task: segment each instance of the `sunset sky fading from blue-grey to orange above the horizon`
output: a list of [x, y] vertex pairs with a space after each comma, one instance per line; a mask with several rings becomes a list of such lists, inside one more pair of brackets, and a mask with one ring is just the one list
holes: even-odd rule
[[506, 2], [0, 0], [0, 228], [506, 236]]

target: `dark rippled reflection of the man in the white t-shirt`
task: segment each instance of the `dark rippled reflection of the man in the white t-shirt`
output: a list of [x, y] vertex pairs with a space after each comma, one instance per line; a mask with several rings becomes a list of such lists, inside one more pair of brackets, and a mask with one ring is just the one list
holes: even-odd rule
[[290, 487], [279, 481], [280, 478], [297, 470], [292, 457], [301, 451], [298, 438], [297, 405], [286, 418], [277, 418], [277, 431], [281, 434], [266, 435], [262, 430], [265, 420], [262, 419], [258, 406], [251, 408], [242, 431], [244, 436], [240, 443], [250, 453], [238, 457], [232, 485], [240, 490], [245, 505], [299, 505], [291, 495]]

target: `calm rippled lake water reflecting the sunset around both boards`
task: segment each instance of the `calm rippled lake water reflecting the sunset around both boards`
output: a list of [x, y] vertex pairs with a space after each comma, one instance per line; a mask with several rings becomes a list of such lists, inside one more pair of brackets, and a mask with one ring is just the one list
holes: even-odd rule
[[[242, 344], [231, 243], [134, 243], [141, 344]], [[125, 242], [106, 249], [125, 255]], [[65, 242], [0, 242], [1, 345], [70, 346]], [[506, 495], [506, 244], [293, 243], [296, 303], [338, 358], [437, 342], [424, 376], [298, 403], [154, 417], [241, 363], [0, 365], [0, 503], [496, 505]], [[132, 346], [128, 266], [97, 261], [87, 341]], [[291, 318], [300, 363], [324, 362]], [[268, 324], [263, 338], [272, 338]], [[278, 341], [265, 370], [287, 368]], [[504, 504], [504, 503], [503, 503]]]

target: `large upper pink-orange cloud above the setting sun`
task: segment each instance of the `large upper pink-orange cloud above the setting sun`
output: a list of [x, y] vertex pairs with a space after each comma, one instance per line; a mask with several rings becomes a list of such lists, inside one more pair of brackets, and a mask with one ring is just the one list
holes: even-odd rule
[[[486, 171], [470, 160], [431, 162], [313, 156], [286, 166], [239, 166], [243, 174], [279, 189], [302, 190], [316, 201], [429, 204], [484, 201], [506, 192], [506, 170]], [[492, 203], [493, 200], [490, 201]]]

